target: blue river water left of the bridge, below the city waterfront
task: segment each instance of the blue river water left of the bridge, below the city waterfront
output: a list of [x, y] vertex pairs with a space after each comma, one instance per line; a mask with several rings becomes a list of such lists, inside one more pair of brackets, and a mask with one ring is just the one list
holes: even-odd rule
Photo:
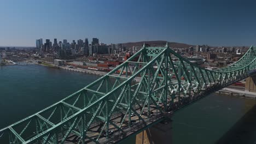
[[41, 65], [0, 66], [0, 129], [60, 101], [98, 77]]

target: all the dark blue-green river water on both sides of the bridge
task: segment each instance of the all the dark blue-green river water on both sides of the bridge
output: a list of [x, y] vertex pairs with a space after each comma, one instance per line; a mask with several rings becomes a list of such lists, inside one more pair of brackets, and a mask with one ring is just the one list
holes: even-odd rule
[[[0, 129], [56, 103], [100, 76], [41, 65], [0, 66]], [[256, 143], [256, 100], [211, 94], [172, 117], [167, 143]], [[128, 143], [135, 143], [135, 139]]]

